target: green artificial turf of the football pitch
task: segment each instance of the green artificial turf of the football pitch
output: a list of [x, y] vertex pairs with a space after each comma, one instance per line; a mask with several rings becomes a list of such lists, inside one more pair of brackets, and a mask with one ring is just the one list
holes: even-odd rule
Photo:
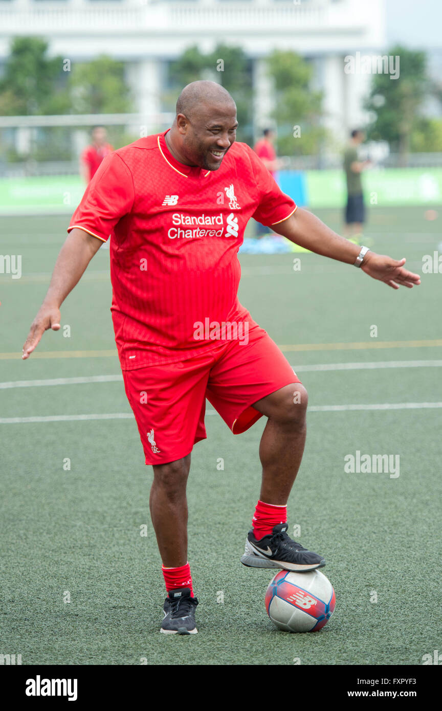
[[[335, 210], [318, 215], [340, 227]], [[425, 220], [424, 208], [377, 208], [367, 236], [374, 250], [406, 256], [421, 273], [422, 256], [438, 249], [439, 221]], [[0, 275], [3, 383], [120, 372], [114, 355], [20, 360], [65, 224], [60, 217], [4, 220], [1, 251], [22, 255], [23, 276]], [[293, 257], [301, 257], [300, 272]], [[311, 254], [244, 255], [241, 262], [240, 299], [280, 345], [441, 338], [441, 274], [393, 292]], [[46, 333], [38, 353], [112, 351], [108, 266], [109, 252], [100, 250], [63, 305], [70, 338]], [[421, 343], [286, 356], [296, 369], [438, 360], [441, 353]], [[442, 401], [441, 368], [429, 365], [300, 377], [313, 407]], [[2, 418], [130, 412], [121, 382], [12, 387], [0, 390], [0, 400]], [[271, 570], [239, 563], [259, 495], [263, 420], [237, 437], [217, 415], [206, 424], [188, 485], [189, 561], [200, 600], [199, 634], [188, 637], [158, 634], [165, 592], [149, 518], [152, 474], [134, 419], [0, 425], [0, 653], [21, 654], [27, 665], [293, 665], [296, 658], [302, 665], [419, 665], [440, 648], [441, 409], [308, 414], [288, 511], [290, 525], [301, 526], [298, 540], [325, 556], [323, 572], [335, 587], [335, 614], [317, 634], [278, 631], [264, 607]], [[399, 454], [400, 476], [345, 473], [344, 457], [357, 450]]]

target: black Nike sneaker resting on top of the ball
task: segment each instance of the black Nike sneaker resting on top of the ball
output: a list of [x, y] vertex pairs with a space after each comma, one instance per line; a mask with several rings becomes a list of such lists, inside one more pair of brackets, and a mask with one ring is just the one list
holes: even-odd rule
[[287, 523], [279, 523], [273, 533], [257, 540], [253, 529], [249, 530], [246, 540], [246, 550], [241, 557], [242, 565], [252, 568], [282, 568], [305, 572], [315, 570], [325, 565], [322, 555], [312, 553], [296, 543], [287, 535]]

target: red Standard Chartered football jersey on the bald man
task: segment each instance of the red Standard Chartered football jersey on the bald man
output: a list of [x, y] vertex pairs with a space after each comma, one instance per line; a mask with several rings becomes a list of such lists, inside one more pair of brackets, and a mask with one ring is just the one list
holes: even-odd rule
[[296, 210], [246, 144], [235, 142], [217, 171], [205, 171], [173, 158], [166, 133], [107, 156], [68, 228], [104, 242], [112, 233], [111, 310], [123, 370], [219, 346], [212, 324], [257, 328], [237, 298], [244, 228], [252, 216], [270, 227]]

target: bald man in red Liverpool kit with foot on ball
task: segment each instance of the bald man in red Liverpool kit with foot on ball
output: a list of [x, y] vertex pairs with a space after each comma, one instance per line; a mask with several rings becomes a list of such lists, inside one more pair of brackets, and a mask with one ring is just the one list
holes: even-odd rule
[[192, 82], [178, 98], [171, 129], [102, 161], [72, 217], [23, 346], [23, 359], [29, 358], [44, 331], [60, 328], [61, 304], [112, 233], [112, 319], [126, 395], [146, 464], [153, 466], [150, 508], [168, 592], [165, 634], [197, 631], [185, 491], [193, 445], [206, 437], [206, 399], [234, 434], [266, 417], [261, 492], [241, 562], [298, 572], [325, 564], [287, 533], [307, 392], [238, 301], [237, 252], [248, 220], [393, 289], [419, 284], [404, 259], [358, 247], [297, 209], [254, 151], [235, 142], [237, 125], [225, 89]]

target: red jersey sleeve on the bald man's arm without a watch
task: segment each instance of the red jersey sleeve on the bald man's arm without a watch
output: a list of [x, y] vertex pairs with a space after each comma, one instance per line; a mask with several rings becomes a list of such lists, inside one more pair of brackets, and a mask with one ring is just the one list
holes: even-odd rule
[[72, 215], [68, 232], [75, 227], [106, 242], [117, 222], [134, 204], [131, 171], [117, 153], [109, 154], [90, 181]]

